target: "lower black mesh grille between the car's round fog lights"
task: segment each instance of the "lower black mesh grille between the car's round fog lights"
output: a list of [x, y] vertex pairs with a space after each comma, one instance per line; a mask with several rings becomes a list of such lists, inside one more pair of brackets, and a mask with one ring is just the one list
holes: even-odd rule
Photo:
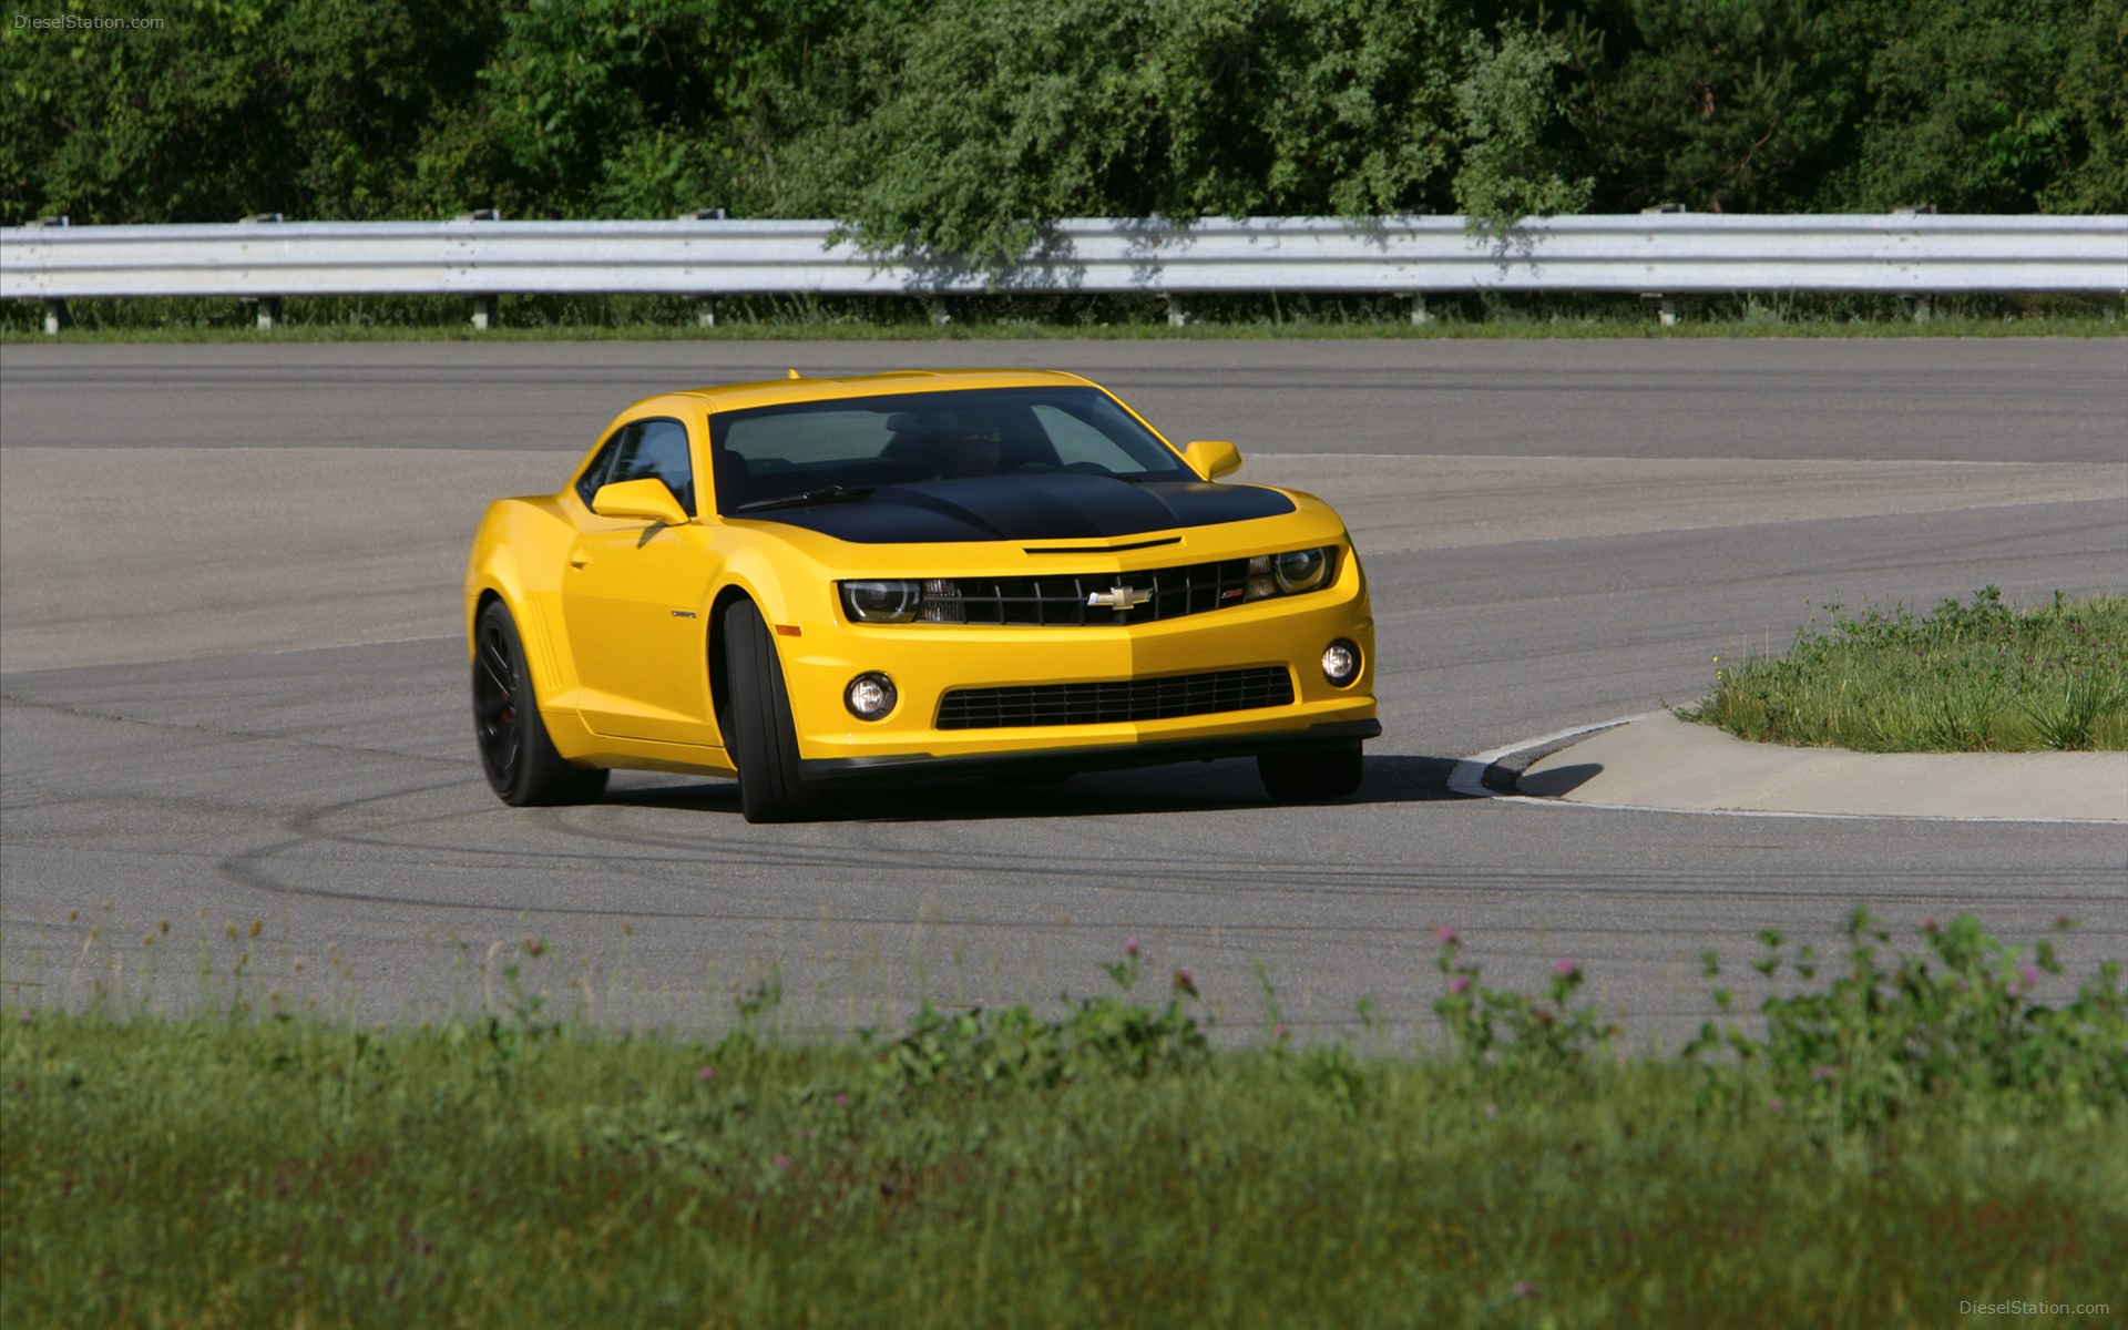
[[1115, 679], [1109, 683], [1036, 683], [1028, 687], [962, 687], [938, 704], [941, 730], [1000, 730], [1013, 726], [1098, 726], [1158, 721], [1175, 715], [1213, 715], [1287, 706], [1294, 677], [1285, 666]]

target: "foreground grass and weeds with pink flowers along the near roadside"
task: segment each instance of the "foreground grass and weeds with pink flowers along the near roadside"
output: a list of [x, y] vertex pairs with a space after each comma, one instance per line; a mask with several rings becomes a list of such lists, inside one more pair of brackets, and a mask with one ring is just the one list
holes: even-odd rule
[[[2073, 928], [2068, 919], [2062, 928]], [[0, 1030], [9, 1326], [1941, 1326], [2119, 1309], [2128, 994], [1960, 915], [1762, 934], [1751, 1017], [1626, 1053], [1570, 958], [1443, 928], [1419, 1051], [1213, 1038], [1187, 970], [1055, 1015], [715, 1038], [555, 1017], [528, 938], [419, 1028], [104, 992]], [[249, 938], [257, 936], [257, 928]], [[155, 945], [155, 943], [151, 943]], [[236, 955], [230, 962], [230, 955]], [[1158, 987], [1158, 994], [1147, 990]], [[1362, 1015], [1366, 1011], [1362, 1009]]]

